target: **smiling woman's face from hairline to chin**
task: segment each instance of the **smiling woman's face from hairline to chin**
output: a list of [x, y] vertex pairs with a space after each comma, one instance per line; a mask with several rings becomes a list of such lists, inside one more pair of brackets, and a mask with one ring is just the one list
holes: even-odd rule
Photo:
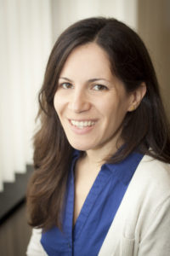
[[73, 148], [100, 149], [116, 145], [133, 96], [111, 73], [104, 49], [89, 43], [71, 52], [59, 75], [54, 108]]

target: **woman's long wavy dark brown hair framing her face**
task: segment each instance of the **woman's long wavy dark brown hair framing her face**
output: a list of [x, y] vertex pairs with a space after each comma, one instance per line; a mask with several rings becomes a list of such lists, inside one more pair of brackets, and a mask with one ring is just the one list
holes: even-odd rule
[[[29, 224], [48, 230], [62, 226], [65, 189], [73, 148], [65, 137], [54, 109], [59, 73], [71, 51], [95, 42], [108, 54], [111, 72], [121, 79], [127, 92], [146, 84], [146, 94], [122, 123], [125, 147], [108, 160], [116, 163], [138, 148], [158, 160], [170, 162], [170, 135], [166, 114], [150, 55], [136, 32], [115, 19], [103, 17], [80, 20], [63, 32], [49, 56], [39, 93], [39, 131], [34, 136], [34, 168], [27, 192]], [[151, 148], [151, 149], [150, 149]]]

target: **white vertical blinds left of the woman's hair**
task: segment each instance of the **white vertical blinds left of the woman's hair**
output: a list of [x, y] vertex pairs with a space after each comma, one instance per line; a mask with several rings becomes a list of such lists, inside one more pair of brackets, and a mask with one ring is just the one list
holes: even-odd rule
[[0, 191], [31, 162], [37, 91], [52, 47], [48, 0], [0, 1]]

